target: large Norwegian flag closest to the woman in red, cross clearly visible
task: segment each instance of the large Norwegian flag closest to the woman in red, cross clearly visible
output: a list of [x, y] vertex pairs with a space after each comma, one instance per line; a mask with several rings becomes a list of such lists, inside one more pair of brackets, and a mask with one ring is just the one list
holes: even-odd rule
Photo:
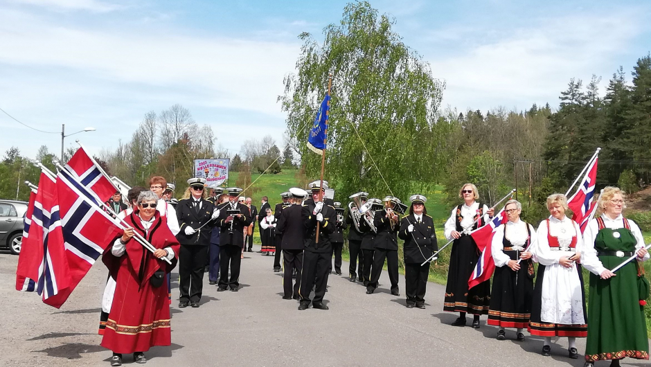
[[70, 172], [61, 170], [57, 174], [56, 190], [69, 282], [43, 301], [59, 308], [122, 229], [100, 209], [93, 193]]

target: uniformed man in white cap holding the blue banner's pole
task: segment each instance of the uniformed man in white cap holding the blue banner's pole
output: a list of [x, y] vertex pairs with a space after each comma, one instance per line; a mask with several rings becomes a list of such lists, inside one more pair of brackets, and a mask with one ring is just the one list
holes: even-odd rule
[[[305, 310], [312, 302], [312, 307], [319, 310], [328, 310], [323, 304], [323, 296], [326, 294], [328, 285], [328, 266], [332, 262], [332, 244], [330, 234], [335, 231], [335, 208], [323, 201], [326, 182], [323, 187], [319, 181], [312, 183], [312, 202], [306, 201], [303, 204], [301, 217], [305, 225], [305, 253], [303, 254], [303, 274], [301, 274], [301, 286], [298, 294], [301, 296], [301, 304], [298, 310]], [[319, 242], [316, 242], [316, 227], [319, 223]], [[310, 300], [312, 286], [314, 300]]]

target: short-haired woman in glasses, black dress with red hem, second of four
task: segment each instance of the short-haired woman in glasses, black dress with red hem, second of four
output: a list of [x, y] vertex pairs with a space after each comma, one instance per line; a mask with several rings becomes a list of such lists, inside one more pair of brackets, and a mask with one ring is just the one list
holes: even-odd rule
[[516, 328], [517, 341], [524, 341], [522, 329], [529, 323], [533, 296], [533, 261], [536, 233], [520, 220], [522, 206], [509, 200], [504, 206], [506, 224], [495, 229], [492, 257], [495, 262], [493, 288], [488, 310], [488, 325], [497, 326], [497, 340], [506, 339], [504, 328]]

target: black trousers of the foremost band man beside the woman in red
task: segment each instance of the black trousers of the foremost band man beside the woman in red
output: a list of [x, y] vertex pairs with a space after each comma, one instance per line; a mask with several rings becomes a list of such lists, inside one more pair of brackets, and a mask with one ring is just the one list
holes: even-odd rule
[[204, 287], [204, 267], [208, 246], [181, 244], [179, 250], [179, 290], [181, 302], [199, 302]]

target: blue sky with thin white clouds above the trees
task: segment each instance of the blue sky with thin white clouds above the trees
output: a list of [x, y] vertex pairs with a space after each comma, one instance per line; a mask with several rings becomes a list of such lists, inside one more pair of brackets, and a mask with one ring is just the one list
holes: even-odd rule
[[[395, 32], [444, 80], [442, 108], [558, 106], [569, 78], [607, 85], [651, 51], [648, 1], [388, 1]], [[346, 1], [0, 0], [0, 108], [38, 129], [96, 132], [112, 149], [148, 111], [180, 103], [231, 154], [285, 133], [276, 97], [310, 32], [338, 23]], [[0, 152], [59, 152], [60, 135], [0, 113]]]

